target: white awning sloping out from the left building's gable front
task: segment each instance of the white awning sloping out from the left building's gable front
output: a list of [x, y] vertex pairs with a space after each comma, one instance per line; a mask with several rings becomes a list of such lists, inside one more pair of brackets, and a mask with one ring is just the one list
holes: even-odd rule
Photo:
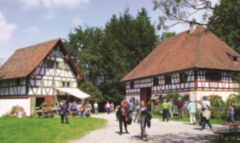
[[81, 91], [78, 88], [67, 88], [67, 87], [64, 87], [64, 88], [57, 88], [57, 90], [60, 91], [60, 92], [64, 92], [64, 93], [70, 94], [70, 95], [75, 96], [75, 97], [80, 98], [80, 99], [84, 99], [84, 98], [90, 97], [89, 94]]

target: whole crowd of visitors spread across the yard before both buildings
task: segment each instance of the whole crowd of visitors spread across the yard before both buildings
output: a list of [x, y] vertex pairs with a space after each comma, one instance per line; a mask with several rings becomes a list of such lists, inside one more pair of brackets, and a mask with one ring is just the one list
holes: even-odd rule
[[[94, 102], [93, 105], [90, 102], [81, 101], [77, 103], [76, 101], [67, 104], [65, 100], [60, 103], [60, 115], [61, 123], [69, 123], [68, 115], [77, 115], [80, 117], [90, 117], [91, 113], [97, 114], [99, 112], [99, 105]], [[189, 101], [183, 100], [179, 97], [177, 100], [164, 98], [160, 104], [160, 109], [162, 111], [162, 121], [169, 121], [175, 115], [177, 119], [189, 116], [190, 124], [195, 125], [197, 123], [196, 116], [199, 119], [199, 125], [201, 130], [205, 129], [208, 125], [210, 130], [213, 130], [211, 125], [211, 103], [207, 97], [203, 97], [202, 101]], [[123, 127], [125, 133], [128, 132], [128, 125], [132, 124], [132, 121], [140, 124], [140, 134], [143, 140], [147, 140], [146, 127], [151, 126], [151, 114], [148, 103], [141, 101], [139, 104], [138, 100], [134, 98], [129, 102], [122, 100], [119, 105], [115, 107], [113, 102], [106, 102], [104, 104], [104, 109], [107, 114], [115, 113], [116, 119], [119, 122], [119, 134], [123, 134]], [[197, 114], [198, 113], [198, 114]], [[227, 109], [227, 121], [234, 123], [234, 107], [229, 104]]]

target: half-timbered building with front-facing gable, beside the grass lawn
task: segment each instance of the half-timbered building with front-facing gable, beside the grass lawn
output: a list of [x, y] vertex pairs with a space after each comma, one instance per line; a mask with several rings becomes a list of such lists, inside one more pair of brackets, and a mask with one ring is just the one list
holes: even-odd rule
[[54, 104], [65, 94], [57, 89], [76, 89], [81, 80], [60, 39], [18, 49], [0, 68], [0, 116], [16, 105], [30, 115], [42, 101]]

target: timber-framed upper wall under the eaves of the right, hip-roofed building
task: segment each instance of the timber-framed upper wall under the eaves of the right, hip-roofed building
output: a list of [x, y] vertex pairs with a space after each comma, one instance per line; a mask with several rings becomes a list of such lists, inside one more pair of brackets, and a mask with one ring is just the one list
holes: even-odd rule
[[[220, 81], [209, 81], [206, 73], [214, 71], [220, 73]], [[162, 95], [167, 92], [190, 91], [239, 91], [239, 84], [233, 80], [234, 71], [221, 71], [209, 69], [188, 69], [166, 73], [158, 76], [136, 79], [126, 82], [126, 96], [139, 96], [142, 88], [151, 87], [152, 95]], [[181, 74], [185, 74], [186, 80], [181, 80]], [[171, 83], [166, 83], [166, 76], [171, 77]], [[156, 84], [156, 78], [158, 84]], [[130, 84], [134, 83], [131, 88]]]

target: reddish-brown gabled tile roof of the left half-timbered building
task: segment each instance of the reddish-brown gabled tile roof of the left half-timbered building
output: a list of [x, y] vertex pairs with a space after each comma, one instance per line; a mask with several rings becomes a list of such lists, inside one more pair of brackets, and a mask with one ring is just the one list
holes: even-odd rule
[[[27, 77], [57, 45], [59, 45], [66, 54], [66, 50], [63, 48], [63, 44], [60, 39], [54, 39], [16, 50], [14, 54], [1, 66], [0, 80]], [[75, 75], [80, 75], [79, 70], [75, 64], [73, 64], [71, 58], [69, 63]]]

